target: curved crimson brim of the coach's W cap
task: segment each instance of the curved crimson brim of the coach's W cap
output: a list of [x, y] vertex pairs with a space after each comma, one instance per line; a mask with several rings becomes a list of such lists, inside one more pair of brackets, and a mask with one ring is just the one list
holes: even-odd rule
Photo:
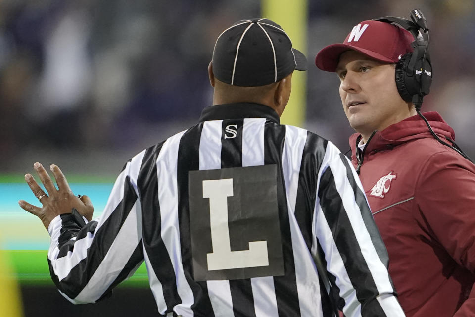
[[392, 60], [384, 55], [375, 53], [370, 50], [362, 49], [357, 46], [340, 43], [340, 44], [329, 45], [323, 48], [320, 52], [318, 52], [317, 57], [315, 57], [315, 65], [321, 70], [335, 72], [336, 66], [338, 66], [338, 62], [340, 60], [341, 53], [349, 51], [349, 50], [363, 53], [373, 59], [386, 62], [386, 63], [394, 63], [397, 61], [397, 60]]

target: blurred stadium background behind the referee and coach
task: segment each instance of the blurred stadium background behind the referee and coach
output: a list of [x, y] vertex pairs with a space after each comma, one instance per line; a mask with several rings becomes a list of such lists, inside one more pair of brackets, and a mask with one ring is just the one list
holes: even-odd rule
[[0, 255], [11, 264], [13, 273], [2, 274], [17, 281], [24, 316], [156, 312], [143, 266], [95, 305], [73, 306], [57, 293], [49, 236], [17, 205], [36, 201], [23, 181], [35, 161], [59, 165], [98, 216], [127, 159], [187, 128], [211, 104], [206, 68], [220, 32], [260, 16], [281, 24], [309, 60], [309, 70], [294, 77], [283, 122], [345, 152], [352, 130], [338, 79], [313, 59], [357, 22], [408, 18], [413, 8], [427, 17], [434, 69], [423, 111], [439, 111], [474, 158], [473, 0], [0, 0]]

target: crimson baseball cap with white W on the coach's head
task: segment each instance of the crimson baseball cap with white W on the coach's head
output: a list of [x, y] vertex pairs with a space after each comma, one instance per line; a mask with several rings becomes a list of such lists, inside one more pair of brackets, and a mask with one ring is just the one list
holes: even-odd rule
[[335, 72], [341, 53], [348, 50], [395, 63], [402, 55], [413, 51], [412, 42], [412, 34], [397, 25], [366, 20], [355, 25], [343, 43], [329, 45], [318, 52], [315, 65], [321, 70]]

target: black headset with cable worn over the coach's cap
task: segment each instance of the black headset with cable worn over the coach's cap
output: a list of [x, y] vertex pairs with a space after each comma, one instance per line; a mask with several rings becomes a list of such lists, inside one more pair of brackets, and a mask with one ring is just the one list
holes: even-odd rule
[[[452, 143], [453, 146], [442, 141], [435, 134], [429, 122], [421, 113], [424, 96], [426, 96], [430, 91], [433, 74], [432, 63], [430, 62], [430, 55], [428, 52], [429, 29], [427, 27], [427, 20], [421, 10], [414, 9], [411, 11], [412, 21], [395, 16], [384, 16], [373, 20], [399, 25], [403, 29], [411, 32], [414, 36], [414, 41], [411, 43], [413, 52], [400, 56], [399, 61], [396, 63], [395, 81], [397, 91], [404, 101], [412, 102], [414, 104], [417, 114], [424, 120], [424, 122], [426, 122], [430, 133], [437, 141], [448, 146], [464, 158], [474, 163], [474, 161], [470, 159], [449, 137], [445, 138]], [[426, 34], [427, 40], [424, 39], [420, 30]]]

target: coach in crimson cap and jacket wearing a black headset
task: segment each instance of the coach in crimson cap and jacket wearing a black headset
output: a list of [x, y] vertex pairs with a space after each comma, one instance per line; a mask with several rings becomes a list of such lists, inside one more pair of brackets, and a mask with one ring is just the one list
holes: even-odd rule
[[[422, 33], [426, 34], [426, 38]], [[422, 12], [358, 23], [316, 57], [336, 72], [357, 132], [352, 162], [387, 246], [409, 317], [475, 316], [475, 165], [435, 111], [421, 112], [432, 68]]]

